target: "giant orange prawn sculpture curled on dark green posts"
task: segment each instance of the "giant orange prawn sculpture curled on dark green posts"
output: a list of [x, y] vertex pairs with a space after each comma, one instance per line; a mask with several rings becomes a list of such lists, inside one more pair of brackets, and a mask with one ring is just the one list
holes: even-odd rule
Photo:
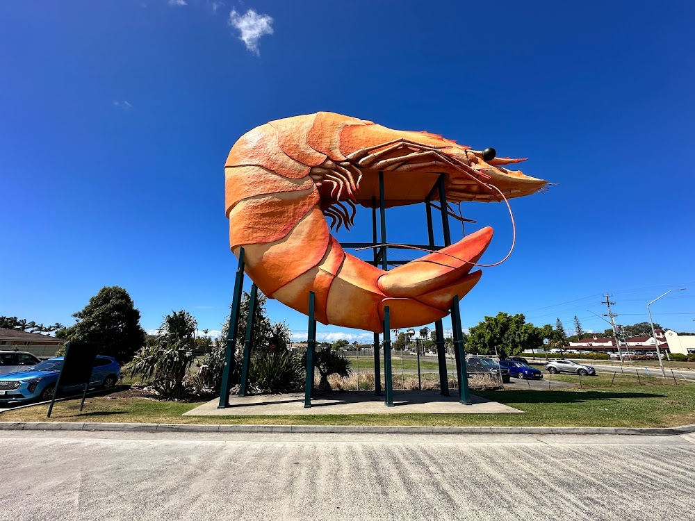
[[379, 196], [379, 171], [393, 172], [384, 174], [387, 207], [422, 202], [442, 173], [452, 202], [499, 201], [546, 185], [503, 166], [523, 159], [494, 156], [335, 113], [266, 123], [234, 144], [225, 165], [231, 250], [244, 248], [245, 271], [266, 296], [306, 314], [315, 292], [323, 324], [380, 333], [385, 306], [391, 327], [429, 324], [480, 279], [470, 270], [492, 229], [386, 272], [346, 254], [326, 217], [350, 229], [355, 204], [370, 207]]

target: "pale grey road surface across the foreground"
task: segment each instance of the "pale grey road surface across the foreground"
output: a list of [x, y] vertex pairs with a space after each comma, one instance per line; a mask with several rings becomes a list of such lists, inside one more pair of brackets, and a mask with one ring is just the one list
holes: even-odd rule
[[692, 520], [695, 436], [0, 431], [0, 520]]

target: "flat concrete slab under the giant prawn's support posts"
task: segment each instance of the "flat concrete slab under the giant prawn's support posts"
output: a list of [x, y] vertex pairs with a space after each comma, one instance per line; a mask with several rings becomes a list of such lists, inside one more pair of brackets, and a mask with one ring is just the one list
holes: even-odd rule
[[513, 407], [471, 395], [473, 405], [459, 404], [458, 397], [439, 391], [394, 391], [393, 407], [373, 391], [316, 393], [311, 408], [304, 408], [304, 394], [229, 397], [229, 407], [218, 409], [219, 399], [196, 407], [184, 416], [319, 415], [319, 414], [523, 414]]

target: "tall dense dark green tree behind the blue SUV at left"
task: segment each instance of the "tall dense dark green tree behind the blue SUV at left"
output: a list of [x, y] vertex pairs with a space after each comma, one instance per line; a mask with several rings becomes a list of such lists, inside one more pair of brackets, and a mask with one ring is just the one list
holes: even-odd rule
[[118, 286], [106, 286], [89, 300], [82, 311], [72, 315], [77, 322], [65, 329], [68, 341], [96, 342], [99, 354], [113, 356], [120, 363], [133, 358], [145, 345], [140, 327], [140, 311], [128, 292]]

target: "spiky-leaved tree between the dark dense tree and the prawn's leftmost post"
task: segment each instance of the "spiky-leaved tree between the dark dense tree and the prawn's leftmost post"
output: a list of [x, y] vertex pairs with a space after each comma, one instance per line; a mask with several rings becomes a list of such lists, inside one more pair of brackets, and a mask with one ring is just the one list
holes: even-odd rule
[[156, 340], [140, 349], [126, 372], [152, 383], [165, 399], [182, 398], [186, 393], [188, 370], [195, 361], [196, 329], [197, 322], [187, 311], [166, 315]]

